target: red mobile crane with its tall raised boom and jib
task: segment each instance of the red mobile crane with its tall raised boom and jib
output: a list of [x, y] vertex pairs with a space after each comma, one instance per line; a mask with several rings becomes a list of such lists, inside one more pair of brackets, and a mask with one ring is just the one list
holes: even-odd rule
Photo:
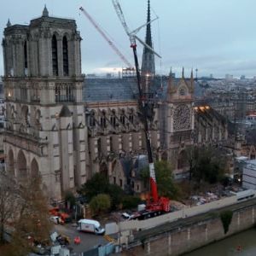
[[[135, 61], [135, 68], [137, 73], [137, 88], [138, 88], [138, 104], [139, 108], [142, 112], [142, 119], [143, 119], [143, 125], [144, 125], [144, 133], [146, 137], [146, 144], [147, 144], [147, 151], [148, 151], [148, 164], [149, 164], [149, 178], [150, 178], [150, 189], [151, 189], [151, 196], [152, 198], [148, 198], [147, 205], [143, 211], [136, 212], [133, 214], [132, 218], [137, 219], [143, 219], [143, 218], [152, 218], [154, 216], [160, 215], [164, 212], [170, 212], [170, 201], [166, 197], [160, 197], [157, 192], [157, 183], [155, 179], [155, 172], [154, 172], [154, 160], [153, 160], [153, 154], [152, 154], [152, 148], [150, 143], [150, 134], [148, 131], [148, 117], [147, 117], [147, 99], [145, 98], [142, 90], [141, 85], [141, 74], [139, 70], [138, 60], [137, 60], [137, 44], [136, 39], [143, 44], [145, 47], [150, 49], [155, 55], [159, 56], [154, 49], [152, 49], [148, 44], [145, 44], [142, 39], [138, 38], [136, 33], [143, 28], [143, 26], [147, 26], [149, 23], [151, 23], [154, 20], [151, 20], [144, 24], [143, 26], [139, 26], [136, 30], [130, 32], [130, 29], [128, 28], [126, 22], [125, 22], [125, 16], [123, 14], [123, 11], [120, 7], [118, 0], [112, 0], [113, 7], [119, 17], [119, 20], [121, 21], [122, 26], [125, 28], [125, 32], [130, 38], [131, 42], [131, 49], [133, 50], [133, 56]], [[157, 19], [157, 18], [156, 18]]]

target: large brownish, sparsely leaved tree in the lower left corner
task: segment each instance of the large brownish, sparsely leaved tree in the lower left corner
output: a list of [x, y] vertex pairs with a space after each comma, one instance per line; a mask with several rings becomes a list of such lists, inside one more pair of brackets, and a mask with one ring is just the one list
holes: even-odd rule
[[[15, 181], [6, 174], [0, 176], [0, 246], [5, 231], [11, 233], [9, 245], [4, 249], [8, 255], [26, 255], [33, 241], [49, 238], [52, 224], [49, 222], [48, 201], [41, 189], [41, 178], [33, 177]], [[0, 248], [1, 250], [1, 248]]]

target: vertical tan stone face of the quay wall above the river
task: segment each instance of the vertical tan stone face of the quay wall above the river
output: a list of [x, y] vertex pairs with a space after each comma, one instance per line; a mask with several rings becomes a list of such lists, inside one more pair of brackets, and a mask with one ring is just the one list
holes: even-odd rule
[[236, 234], [242, 230], [253, 227], [255, 223], [256, 206], [241, 208], [233, 212], [230, 229], [224, 234], [220, 218], [212, 217], [194, 224], [170, 230], [147, 240], [137, 241], [121, 255], [180, 255], [205, 246], [213, 241], [224, 239], [226, 236]]

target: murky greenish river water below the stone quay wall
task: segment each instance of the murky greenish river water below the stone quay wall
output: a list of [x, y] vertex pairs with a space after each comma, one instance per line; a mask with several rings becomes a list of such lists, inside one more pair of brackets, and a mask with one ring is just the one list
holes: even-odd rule
[[256, 229], [214, 242], [185, 256], [256, 256]]

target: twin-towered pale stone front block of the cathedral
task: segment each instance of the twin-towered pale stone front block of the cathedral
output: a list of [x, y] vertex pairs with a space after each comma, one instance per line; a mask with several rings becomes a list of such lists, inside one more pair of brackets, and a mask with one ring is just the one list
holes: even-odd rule
[[43, 15], [4, 29], [6, 170], [40, 175], [48, 195], [86, 181], [79, 32], [75, 20]]

